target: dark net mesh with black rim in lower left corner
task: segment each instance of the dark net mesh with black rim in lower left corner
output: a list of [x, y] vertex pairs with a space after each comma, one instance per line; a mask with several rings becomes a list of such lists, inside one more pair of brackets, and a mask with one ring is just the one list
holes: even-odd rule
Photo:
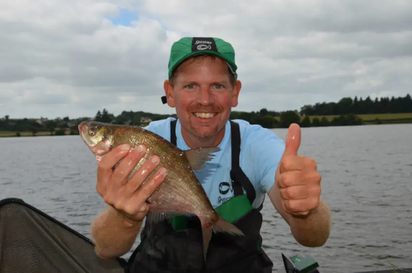
[[22, 200], [0, 201], [0, 273], [125, 273], [124, 264]]

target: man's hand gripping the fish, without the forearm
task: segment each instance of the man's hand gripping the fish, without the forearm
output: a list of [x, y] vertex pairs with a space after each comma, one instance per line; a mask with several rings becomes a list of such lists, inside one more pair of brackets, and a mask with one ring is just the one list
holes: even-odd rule
[[[120, 145], [113, 148], [100, 160], [97, 168], [96, 190], [107, 204], [123, 214], [128, 220], [139, 222], [149, 211], [146, 199], [158, 188], [167, 171], [165, 168], [160, 168], [138, 190], [146, 177], [158, 166], [159, 157], [154, 156], [153, 160], [144, 162], [127, 180], [146, 152], [143, 145], [133, 149], [130, 153], [128, 153], [129, 149], [129, 145]], [[120, 160], [122, 161], [113, 171], [113, 167]]]

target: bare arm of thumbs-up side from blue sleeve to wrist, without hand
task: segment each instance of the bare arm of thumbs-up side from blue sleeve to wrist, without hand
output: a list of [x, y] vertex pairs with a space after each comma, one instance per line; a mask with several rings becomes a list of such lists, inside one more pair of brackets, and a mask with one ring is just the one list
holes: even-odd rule
[[323, 199], [320, 199], [319, 206], [306, 216], [295, 216], [284, 209], [277, 184], [272, 186], [268, 195], [275, 209], [290, 226], [296, 241], [308, 247], [322, 246], [326, 243], [331, 232], [332, 221], [329, 207]]

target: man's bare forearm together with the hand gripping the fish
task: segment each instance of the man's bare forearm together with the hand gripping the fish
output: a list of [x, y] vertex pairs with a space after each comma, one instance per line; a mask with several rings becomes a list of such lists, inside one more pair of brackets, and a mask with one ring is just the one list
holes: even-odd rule
[[96, 190], [109, 206], [93, 221], [92, 238], [96, 253], [105, 259], [122, 256], [130, 250], [149, 210], [145, 201], [167, 175], [167, 170], [162, 167], [143, 184], [158, 166], [159, 158], [153, 156], [152, 160], [156, 161], [145, 161], [128, 179], [146, 150], [143, 146], [128, 151], [128, 148], [116, 147], [98, 164]]

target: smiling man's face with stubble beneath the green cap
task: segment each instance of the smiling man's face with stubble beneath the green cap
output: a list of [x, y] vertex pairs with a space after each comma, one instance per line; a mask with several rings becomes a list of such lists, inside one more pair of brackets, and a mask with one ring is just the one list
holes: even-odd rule
[[235, 86], [231, 83], [227, 64], [219, 58], [200, 56], [181, 64], [175, 75], [173, 87], [165, 81], [165, 91], [182, 129], [200, 138], [224, 135], [222, 129], [232, 107], [238, 105], [241, 87], [240, 81]]

